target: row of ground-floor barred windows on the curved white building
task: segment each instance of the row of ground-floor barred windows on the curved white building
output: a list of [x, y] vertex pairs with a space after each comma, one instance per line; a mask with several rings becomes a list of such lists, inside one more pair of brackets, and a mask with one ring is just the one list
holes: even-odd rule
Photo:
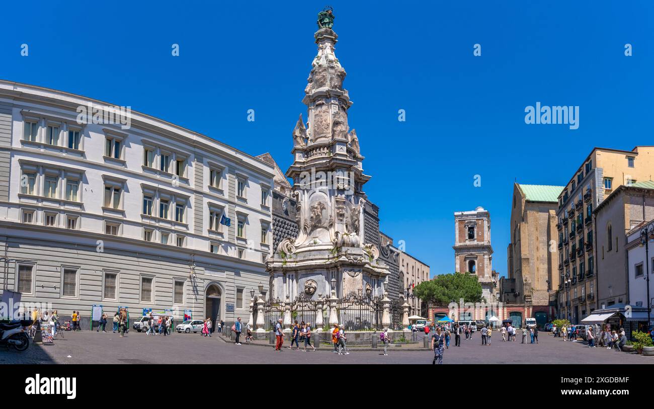
[[[23, 294], [33, 294], [35, 266], [33, 264], [18, 265], [17, 291]], [[63, 268], [61, 296], [77, 297], [78, 268]], [[118, 301], [118, 273], [105, 272], [103, 280], [103, 300]], [[186, 282], [173, 279], [173, 304], [184, 304], [184, 286]], [[154, 302], [154, 277], [141, 276], [141, 302]], [[243, 308], [243, 289], [236, 289], [236, 308]]]

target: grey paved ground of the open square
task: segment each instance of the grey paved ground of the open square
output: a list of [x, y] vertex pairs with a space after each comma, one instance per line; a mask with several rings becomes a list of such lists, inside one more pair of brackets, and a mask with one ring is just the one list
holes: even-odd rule
[[[56, 340], [52, 346], [30, 344], [24, 353], [0, 348], [0, 364], [11, 363], [351, 363], [351, 364], [431, 364], [432, 351], [400, 351], [390, 347], [389, 355], [377, 351], [352, 351], [350, 355], [336, 355], [325, 349], [317, 352], [275, 352], [272, 347], [235, 346], [214, 334], [205, 338], [199, 334], [173, 334], [147, 336], [131, 331], [125, 338], [112, 332], [66, 332], [65, 340]], [[481, 346], [477, 334], [473, 340], [462, 340], [462, 346], [445, 349], [444, 364], [654, 364], [654, 357], [630, 355], [597, 347], [589, 348], [585, 342], [563, 342], [541, 332], [540, 344], [501, 342], [493, 336], [492, 346]]]

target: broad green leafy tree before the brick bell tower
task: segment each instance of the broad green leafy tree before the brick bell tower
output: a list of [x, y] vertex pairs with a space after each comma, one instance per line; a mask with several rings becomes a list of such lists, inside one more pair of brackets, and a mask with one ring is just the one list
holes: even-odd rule
[[441, 274], [430, 281], [422, 281], [413, 288], [415, 296], [437, 306], [447, 306], [452, 300], [458, 302], [483, 302], [481, 284], [475, 274]]

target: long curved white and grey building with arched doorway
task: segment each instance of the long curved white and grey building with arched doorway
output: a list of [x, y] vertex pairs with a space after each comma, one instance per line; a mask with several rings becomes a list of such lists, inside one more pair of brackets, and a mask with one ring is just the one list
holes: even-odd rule
[[0, 81], [0, 291], [60, 315], [101, 304], [247, 322], [250, 291], [268, 287], [273, 167], [134, 111], [129, 127], [83, 123], [80, 107], [112, 112]]

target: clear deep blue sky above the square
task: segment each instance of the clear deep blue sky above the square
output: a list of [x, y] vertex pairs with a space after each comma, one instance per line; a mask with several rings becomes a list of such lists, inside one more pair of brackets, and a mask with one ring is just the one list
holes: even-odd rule
[[[0, 78], [129, 105], [271, 152], [285, 170], [325, 4], [12, 1]], [[432, 275], [453, 271], [453, 212], [489, 209], [493, 267], [505, 275], [514, 180], [562, 185], [594, 146], [654, 145], [651, 2], [327, 4], [373, 177], [365, 190], [382, 230]], [[578, 105], [579, 128], [525, 124], [536, 101]]]

